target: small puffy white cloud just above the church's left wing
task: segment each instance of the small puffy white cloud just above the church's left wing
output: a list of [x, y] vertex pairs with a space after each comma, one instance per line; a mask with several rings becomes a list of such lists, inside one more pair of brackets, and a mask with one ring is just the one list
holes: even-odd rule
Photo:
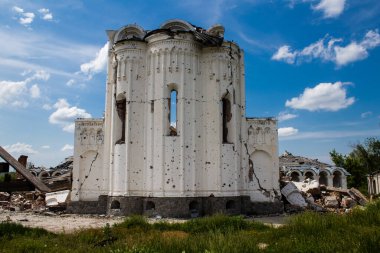
[[63, 131], [74, 132], [74, 120], [90, 118], [91, 114], [76, 106], [70, 106], [66, 99], [59, 99], [53, 106], [56, 110], [49, 116], [51, 124], [59, 125]]

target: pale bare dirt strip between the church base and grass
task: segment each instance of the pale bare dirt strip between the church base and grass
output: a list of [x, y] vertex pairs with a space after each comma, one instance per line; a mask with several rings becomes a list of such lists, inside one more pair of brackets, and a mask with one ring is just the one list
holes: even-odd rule
[[[286, 223], [286, 216], [250, 218], [274, 227], [282, 226]], [[56, 214], [52, 212], [12, 212], [0, 211], [0, 222], [16, 222], [27, 227], [44, 228], [54, 233], [72, 233], [76, 230], [86, 228], [100, 228], [107, 223], [110, 225], [120, 223], [124, 217], [106, 217], [102, 215], [78, 215], [78, 214]], [[168, 222], [184, 222], [182, 219], [159, 219]], [[150, 222], [158, 219], [149, 219]]]

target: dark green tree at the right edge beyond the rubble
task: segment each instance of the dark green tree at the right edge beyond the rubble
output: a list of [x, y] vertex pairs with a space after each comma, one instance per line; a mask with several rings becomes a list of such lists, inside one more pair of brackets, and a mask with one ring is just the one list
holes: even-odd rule
[[330, 156], [336, 166], [345, 168], [351, 174], [347, 178], [347, 186], [367, 193], [367, 175], [372, 177], [380, 170], [380, 140], [368, 138], [364, 143], [354, 145], [348, 155], [340, 154], [334, 149]]

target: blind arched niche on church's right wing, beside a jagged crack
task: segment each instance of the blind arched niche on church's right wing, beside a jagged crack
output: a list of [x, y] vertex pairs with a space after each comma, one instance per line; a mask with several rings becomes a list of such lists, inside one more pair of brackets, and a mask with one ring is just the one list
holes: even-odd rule
[[[256, 150], [251, 155], [254, 177], [264, 189], [272, 187], [273, 161], [271, 155], [263, 150]], [[277, 168], [278, 170], [278, 168]]]

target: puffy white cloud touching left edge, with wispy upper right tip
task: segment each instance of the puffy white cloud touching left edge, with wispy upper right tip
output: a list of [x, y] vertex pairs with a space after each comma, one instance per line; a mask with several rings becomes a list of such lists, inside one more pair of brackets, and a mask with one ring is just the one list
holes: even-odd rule
[[49, 76], [49, 73], [45, 71], [36, 71], [35, 74], [23, 81], [0, 81], [0, 107], [6, 105], [27, 107], [29, 97], [39, 98], [41, 95], [38, 85], [34, 84], [29, 88], [29, 83], [34, 80], [46, 81]]

